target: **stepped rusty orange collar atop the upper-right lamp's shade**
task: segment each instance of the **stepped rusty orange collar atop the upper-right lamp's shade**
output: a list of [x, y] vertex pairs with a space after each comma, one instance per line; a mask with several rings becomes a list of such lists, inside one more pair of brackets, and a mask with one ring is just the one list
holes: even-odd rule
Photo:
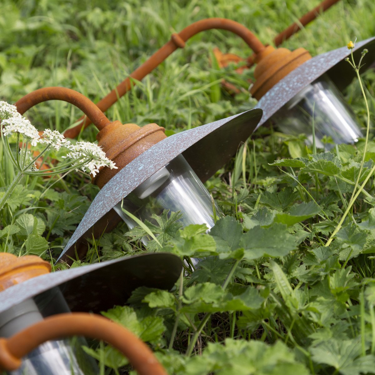
[[258, 65], [254, 71], [256, 81], [250, 90], [252, 96], [259, 100], [282, 78], [309, 59], [311, 55], [305, 48], [297, 48], [292, 52], [287, 48], [267, 46], [255, 58]]

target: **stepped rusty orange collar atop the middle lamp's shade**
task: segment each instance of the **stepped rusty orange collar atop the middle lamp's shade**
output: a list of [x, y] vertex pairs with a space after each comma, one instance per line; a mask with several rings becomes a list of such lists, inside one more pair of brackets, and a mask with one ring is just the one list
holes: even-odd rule
[[102, 188], [124, 166], [165, 138], [164, 128], [157, 124], [140, 127], [113, 121], [98, 133], [96, 139], [108, 159], [116, 163], [117, 169], [102, 167], [92, 182]]

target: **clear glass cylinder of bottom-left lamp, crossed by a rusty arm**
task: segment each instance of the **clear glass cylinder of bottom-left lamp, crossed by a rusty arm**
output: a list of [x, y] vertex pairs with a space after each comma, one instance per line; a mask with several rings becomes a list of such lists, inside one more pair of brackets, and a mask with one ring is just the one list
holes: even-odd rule
[[[52, 305], [53, 307], [51, 307]], [[58, 288], [27, 299], [0, 314], [0, 337], [9, 338], [15, 333], [42, 321], [50, 309], [54, 312], [69, 312]], [[88, 357], [81, 345], [83, 338], [51, 340], [39, 345], [22, 360], [20, 368], [8, 372], [10, 375], [96, 375], [99, 369]]]

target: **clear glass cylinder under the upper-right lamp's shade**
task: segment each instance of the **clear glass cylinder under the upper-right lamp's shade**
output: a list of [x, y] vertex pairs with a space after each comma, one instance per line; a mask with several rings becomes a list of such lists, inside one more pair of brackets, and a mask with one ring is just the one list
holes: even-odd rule
[[284, 133], [305, 133], [312, 144], [313, 115], [317, 147], [333, 147], [321, 142], [324, 136], [331, 137], [335, 144], [354, 143], [363, 136], [353, 111], [327, 75], [305, 87], [272, 120]]

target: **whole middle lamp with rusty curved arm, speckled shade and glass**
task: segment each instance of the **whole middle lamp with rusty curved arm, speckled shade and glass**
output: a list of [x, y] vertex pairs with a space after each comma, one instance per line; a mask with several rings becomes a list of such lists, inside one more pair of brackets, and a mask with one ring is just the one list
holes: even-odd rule
[[20, 99], [16, 107], [24, 114], [52, 99], [76, 105], [93, 120], [100, 130], [98, 144], [118, 167], [101, 168], [92, 178], [101, 191], [59, 260], [75, 254], [72, 245], [81, 237], [113, 229], [119, 216], [132, 228], [135, 223], [123, 213], [121, 204], [140, 219], [149, 219], [151, 213], [160, 214], [166, 208], [180, 210], [183, 225], [205, 223], [211, 228], [213, 202], [203, 182], [236, 153], [262, 115], [261, 110], [251, 110], [167, 138], [164, 128], [156, 124], [139, 127], [110, 122], [84, 95], [63, 87], [36, 90]]

